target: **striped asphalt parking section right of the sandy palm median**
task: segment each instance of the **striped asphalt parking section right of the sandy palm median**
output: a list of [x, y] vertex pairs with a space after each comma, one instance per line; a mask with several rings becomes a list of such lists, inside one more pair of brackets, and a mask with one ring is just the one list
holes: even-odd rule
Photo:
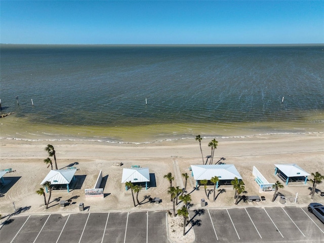
[[[195, 217], [200, 220], [194, 226], [195, 243], [324, 242], [323, 225], [305, 210], [307, 207], [205, 209]], [[191, 211], [190, 217], [194, 215]]]

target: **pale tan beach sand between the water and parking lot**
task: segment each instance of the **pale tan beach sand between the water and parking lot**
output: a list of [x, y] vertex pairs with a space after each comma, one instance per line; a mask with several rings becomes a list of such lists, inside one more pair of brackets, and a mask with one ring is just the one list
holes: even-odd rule
[[[204, 156], [210, 154], [208, 143], [211, 139], [203, 139], [201, 147]], [[44, 198], [35, 193], [39, 185], [46, 177], [50, 168], [43, 162], [48, 157], [45, 147], [52, 144], [56, 150], [57, 164], [59, 168], [74, 166], [78, 170], [76, 176], [79, 179], [79, 189], [55, 190], [52, 192], [49, 209], [45, 209]], [[167, 191], [169, 182], [164, 178], [168, 172], [172, 172], [175, 180], [174, 186], [182, 188], [184, 179], [181, 173], [189, 175], [187, 191], [191, 192], [195, 181], [189, 170], [190, 165], [202, 164], [199, 143], [194, 139], [164, 141], [153, 144], [109, 144], [100, 142], [75, 142], [75, 141], [19, 141], [13, 139], [1, 140], [1, 169], [12, 168], [14, 172], [4, 176], [5, 185], [2, 185], [0, 197], [0, 213], [5, 216], [16, 209], [26, 209], [24, 214], [47, 213], [77, 213], [79, 202], [84, 202], [89, 212], [120, 212], [120, 211], [149, 211], [166, 210], [172, 212], [172, 202]], [[245, 183], [246, 195], [265, 196], [261, 202], [240, 201], [234, 205], [234, 190], [231, 186], [221, 186], [225, 189], [220, 193], [215, 202], [208, 200], [203, 187], [191, 192], [193, 206], [191, 209], [199, 209], [200, 199], [205, 198], [208, 208], [226, 208], [232, 206], [282, 206], [277, 198], [271, 202], [273, 192], [259, 192], [259, 186], [254, 181], [252, 168], [256, 166], [263, 176], [274, 183], [280, 179], [274, 176], [274, 164], [296, 163], [307, 172], [319, 171], [324, 175], [324, 135], [323, 133], [307, 134], [268, 134], [237, 138], [218, 139], [218, 147], [215, 151], [214, 163], [224, 157], [226, 164], [234, 164]], [[53, 162], [54, 159], [52, 158]], [[114, 163], [122, 162], [122, 166], [114, 166]], [[154, 174], [156, 186], [145, 188], [139, 193], [139, 200], [143, 204], [134, 207], [130, 191], [125, 190], [121, 184], [123, 168], [131, 165], [149, 167], [149, 172]], [[99, 171], [106, 179], [104, 185], [104, 198], [86, 198], [86, 188], [93, 188]], [[310, 177], [311, 178], [311, 177]], [[280, 181], [282, 184], [284, 182]], [[315, 194], [310, 199], [309, 187], [302, 182], [285, 185], [279, 192], [286, 196], [286, 205], [308, 205], [310, 202], [324, 202], [324, 198]], [[213, 186], [208, 186], [213, 189]], [[324, 191], [324, 183], [317, 185], [317, 189]], [[218, 193], [218, 192], [217, 192]], [[296, 193], [298, 193], [295, 204]], [[47, 194], [48, 196], [48, 194]], [[149, 203], [145, 196], [159, 197], [159, 204]], [[212, 193], [211, 193], [212, 198]], [[71, 204], [60, 207], [60, 200], [71, 200]], [[177, 206], [180, 209], [182, 204]], [[182, 217], [181, 217], [182, 218]], [[180, 227], [180, 235], [182, 228]], [[180, 237], [180, 236], [179, 236]], [[189, 236], [188, 236], [189, 237]], [[191, 237], [191, 236], [190, 236]]]

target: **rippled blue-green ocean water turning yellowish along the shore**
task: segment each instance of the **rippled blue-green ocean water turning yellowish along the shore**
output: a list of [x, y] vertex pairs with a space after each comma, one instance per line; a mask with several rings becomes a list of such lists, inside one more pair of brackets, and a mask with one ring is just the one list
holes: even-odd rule
[[1, 45], [1, 137], [321, 132], [323, 48]]

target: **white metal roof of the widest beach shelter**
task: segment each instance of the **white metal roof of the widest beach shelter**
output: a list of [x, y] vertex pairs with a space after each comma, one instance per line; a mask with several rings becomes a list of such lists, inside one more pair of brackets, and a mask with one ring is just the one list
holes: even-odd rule
[[212, 177], [219, 177], [219, 180], [242, 179], [233, 164], [206, 164], [191, 165], [194, 180], [211, 180]]

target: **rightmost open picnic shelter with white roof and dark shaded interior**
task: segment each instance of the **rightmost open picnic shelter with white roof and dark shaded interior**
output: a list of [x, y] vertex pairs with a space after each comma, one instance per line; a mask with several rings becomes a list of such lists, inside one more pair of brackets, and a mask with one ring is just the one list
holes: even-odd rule
[[275, 164], [274, 166], [274, 175], [286, 182], [286, 185], [292, 181], [304, 181], [304, 184], [306, 184], [307, 177], [310, 176], [307, 171], [297, 164]]

